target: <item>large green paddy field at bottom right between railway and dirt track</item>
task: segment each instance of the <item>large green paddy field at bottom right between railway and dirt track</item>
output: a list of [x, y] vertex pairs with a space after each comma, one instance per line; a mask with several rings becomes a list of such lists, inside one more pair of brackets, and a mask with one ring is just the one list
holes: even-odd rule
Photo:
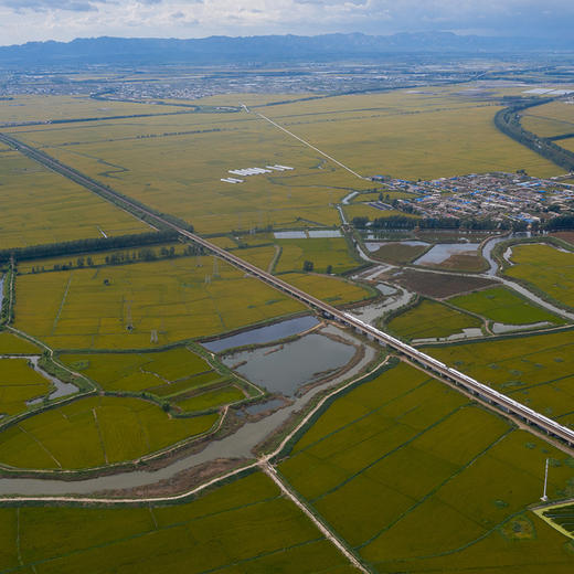
[[566, 573], [572, 546], [528, 504], [574, 460], [401, 364], [337, 400], [281, 475], [374, 572]]

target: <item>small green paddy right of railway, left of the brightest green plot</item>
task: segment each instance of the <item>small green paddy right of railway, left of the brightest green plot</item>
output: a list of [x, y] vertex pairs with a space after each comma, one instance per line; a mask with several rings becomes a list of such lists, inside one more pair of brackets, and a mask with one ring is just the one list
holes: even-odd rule
[[478, 329], [480, 334], [482, 321], [440, 302], [423, 300], [391, 319], [387, 327], [405, 339], [427, 339], [450, 337], [465, 329]]

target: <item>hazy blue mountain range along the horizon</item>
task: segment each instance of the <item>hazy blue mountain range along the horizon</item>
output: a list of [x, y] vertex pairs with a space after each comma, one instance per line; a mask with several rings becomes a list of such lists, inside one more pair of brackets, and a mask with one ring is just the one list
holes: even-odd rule
[[0, 64], [262, 64], [380, 60], [389, 54], [421, 52], [479, 54], [554, 50], [574, 51], [574, 35], [568, 40], [485, 38], [450, 32], [400, 33], [389, 36], [361, 33], [211, 36], [192, 40], [103, 36], [77, 39], [67, 43], [49, 41], [0, 46]]

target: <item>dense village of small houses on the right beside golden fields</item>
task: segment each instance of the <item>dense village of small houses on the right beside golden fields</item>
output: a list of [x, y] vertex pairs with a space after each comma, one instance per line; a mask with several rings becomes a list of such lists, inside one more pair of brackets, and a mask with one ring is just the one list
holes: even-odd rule
[[[375, 178], [373, 178], [375, 179]], [[574, 212], [574, 184], [517, 173], [471, 173], [411, 182], [386, 180], [390, 191], [412, 193], [393, 206], [424, 217], [522, 221], [527, 224]]]

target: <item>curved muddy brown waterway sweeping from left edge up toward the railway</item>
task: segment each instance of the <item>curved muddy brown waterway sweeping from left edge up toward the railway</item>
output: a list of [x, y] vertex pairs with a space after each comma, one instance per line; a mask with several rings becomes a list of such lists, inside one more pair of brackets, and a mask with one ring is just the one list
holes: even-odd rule
[[[341, 337], [348, 340], [350, 344], [360, 343], [360, 341], [351, 333], [334, 326], [325, 328], [323, 332]], [[173, 478], [173, 476], [182, 470], [188, 470], [194, 466], [220, 458], [253, 458], [252, 448], [264, 440], [269, 433], [274, 432], [285, 423], [291, 413], [302, 408], [312, 400], [313, 396], [325, 391], [325, 389], [334, 386], [346, 380], [357, 376], [368, 364], [374, 361], [376, 358], [376, 350], [372, 347], [365, 346], [364, 351], [364, 357], [358, 364], [330, 381], [318, 384], [305, 395], [295, 397], [291, 405], [288, 405], [261, 421], [246, 423], [233, 435], [210, 443], [201, 453], [183, 457], [159, 470], [120, 472], [117, 475], [77, 481], [40, 478], [2, 478], [0, 479], [0, 496], [89, 495], [102, 490], [137, 488]]]

